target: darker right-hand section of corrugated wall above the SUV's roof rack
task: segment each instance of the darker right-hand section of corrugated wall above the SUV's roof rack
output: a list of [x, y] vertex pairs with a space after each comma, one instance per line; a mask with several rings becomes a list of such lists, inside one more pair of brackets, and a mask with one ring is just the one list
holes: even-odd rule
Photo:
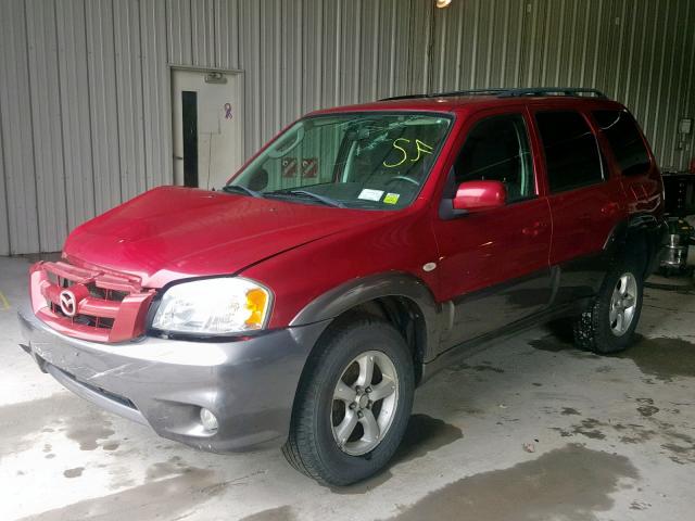
[[466, 0], [434, 13], [431, 90], [594, 87], [637, 117], [662, 168], [695, 156], [692, 0]]

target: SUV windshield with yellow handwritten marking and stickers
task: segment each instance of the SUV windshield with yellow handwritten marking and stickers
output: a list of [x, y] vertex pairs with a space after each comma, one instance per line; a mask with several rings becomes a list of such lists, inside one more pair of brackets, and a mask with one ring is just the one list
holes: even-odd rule
[[451, 118], [422, 113], [330, 114], [300, 119], [223, 190], [369, 209], [410, 204]]

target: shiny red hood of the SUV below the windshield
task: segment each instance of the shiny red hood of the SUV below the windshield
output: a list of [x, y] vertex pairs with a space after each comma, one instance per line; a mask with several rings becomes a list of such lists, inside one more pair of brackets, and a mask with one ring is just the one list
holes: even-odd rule
[[164, 187], [76, 228], [64, 255], [76, 264], [137, 275], [143, 285], [160, 288], [184, 277], [236, 274], [383, 216], [384, 212]]

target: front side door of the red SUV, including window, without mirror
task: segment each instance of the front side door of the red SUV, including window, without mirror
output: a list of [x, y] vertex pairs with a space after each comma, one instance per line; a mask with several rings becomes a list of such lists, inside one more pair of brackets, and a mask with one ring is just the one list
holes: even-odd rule
[[444, 348], [544, 309], [551, 300], [551, 213], [540, 195], [526, 113], [494, 114], [473, 123], [446, 190], [465, 181], [498, 180], [504, 206], [440, 216], [440, 295], [453, 310]]

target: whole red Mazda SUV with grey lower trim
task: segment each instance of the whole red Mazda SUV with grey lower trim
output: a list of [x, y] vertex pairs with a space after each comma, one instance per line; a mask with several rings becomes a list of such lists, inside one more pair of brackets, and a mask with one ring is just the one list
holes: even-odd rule
[[76, 394], [206, 450], [381, 469], [415, 386], [570, 317], [627, 347], [664, 226], [633, 117], [585, 89], [314, 112], [217, 191], [151, 190], [30, 268], [23, 347]]

